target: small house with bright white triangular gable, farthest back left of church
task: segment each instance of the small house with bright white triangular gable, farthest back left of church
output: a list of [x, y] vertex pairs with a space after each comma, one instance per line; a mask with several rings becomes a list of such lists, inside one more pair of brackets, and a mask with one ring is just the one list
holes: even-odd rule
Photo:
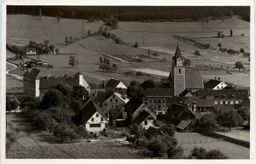
[[126, 94], [127, 87], [122, 83], [121, 80], [111, 78], [105, 85], [106, 92], [117, 91], [120, 94]]

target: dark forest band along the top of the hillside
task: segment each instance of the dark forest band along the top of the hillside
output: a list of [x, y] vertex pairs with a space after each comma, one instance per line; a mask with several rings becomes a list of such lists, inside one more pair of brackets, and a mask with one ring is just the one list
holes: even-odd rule
[[7, 14], [42, 15], [88, 19], [92, 16], [99, 19], [110, 18], [111, 15], [119, 21], [143, 21], [147, 19], [202, 19], [205, 17], [223, 17], [240, 15], [250, 21], [249, 6], [7, 6]]

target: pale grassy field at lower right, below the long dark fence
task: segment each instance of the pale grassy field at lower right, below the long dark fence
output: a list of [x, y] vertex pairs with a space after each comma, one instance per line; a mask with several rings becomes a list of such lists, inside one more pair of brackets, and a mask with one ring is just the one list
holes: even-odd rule
[[[178, 141], [186, 141], [188, 140], [205, 140], [211, 139], [210, 137], [203, 136], [198, 133], [175, 133], [175, 137]], [[206, 150], [218, 149], [221, 152], [225, 153], [229, 159], [249, 159], [250, 158], [250, 149], [245, 148], [236, 144], [232, 144], [226, 141], [217, 141], [217, 142], [204, 142], [204, 143], [196, 143], [196, 144], [183, 144], [182, 148], [186, 149], [184, 154], [186, 156], [189, 155], [190, 150], [194, 147], [204, 147]]]

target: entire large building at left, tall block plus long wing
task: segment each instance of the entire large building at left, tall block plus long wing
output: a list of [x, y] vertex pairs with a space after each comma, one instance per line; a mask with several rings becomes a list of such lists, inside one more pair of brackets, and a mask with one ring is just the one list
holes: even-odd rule
[[69, 76], [51, 76], [38, 69], [28, 69], [23, 74], [23, 93], [40, 99], [52, 87], [59, 83], [67, 83], [68, 85], [81, 85], [90, 93], [90, 86], [83, 78], [83, 75], [78, 72], [75, 75]]

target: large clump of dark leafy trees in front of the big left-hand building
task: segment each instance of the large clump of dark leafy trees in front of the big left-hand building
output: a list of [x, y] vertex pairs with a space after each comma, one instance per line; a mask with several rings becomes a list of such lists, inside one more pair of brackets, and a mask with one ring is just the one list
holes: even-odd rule
[[88, 136], [81, 120], [81, 99], [88, 95], [82, 86], [58, 84], [49, 89], [41, 101], [24, 96], [20, 103], [24, 116], [38, 129], [48, 130], [57, 139], [70, 141]]

